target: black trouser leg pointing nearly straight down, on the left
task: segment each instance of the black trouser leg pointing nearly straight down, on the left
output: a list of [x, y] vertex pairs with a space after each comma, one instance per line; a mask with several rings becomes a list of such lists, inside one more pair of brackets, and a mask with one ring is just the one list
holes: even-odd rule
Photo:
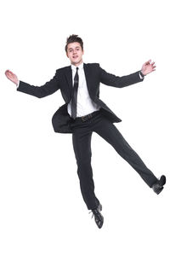
[[94, 194], [94, 179], [91, 166], [91, 137], [92, 131], [78, 129], [72, 134], [72, 143], [77, 160], [77, 174], [80, 180], [80, 187], [83, 200], [88, 209], [95, 209], [99, 206], [99, 200]]

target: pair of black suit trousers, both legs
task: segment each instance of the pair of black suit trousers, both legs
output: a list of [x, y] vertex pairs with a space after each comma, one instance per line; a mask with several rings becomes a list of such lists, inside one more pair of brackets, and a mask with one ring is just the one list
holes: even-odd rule
[[71, 123], [72, 143], [77, 160], [77, 174], [80, 180], [82, 197], [88, 209], [98, 207], [99, 200], [94, 194], [94, 179], [91, 166], [91, 137], [93, 131], [103, 137], [110, 143], [116, 152], [139, 173], [150, 188], [156, 183], [157, 178], [139, 158], [139, 155], [130, 147], [127, 141], [122, 137], [120, 131], [111, 123], [100, 111], [91, 119], [82, 121], [76, 119]]

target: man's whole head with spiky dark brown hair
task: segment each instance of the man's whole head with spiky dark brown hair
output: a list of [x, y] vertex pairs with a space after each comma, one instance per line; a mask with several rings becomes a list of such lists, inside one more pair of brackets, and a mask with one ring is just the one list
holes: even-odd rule
[[78, 66], [82, 63], [84, 54], [82, 38], [77, 35], [71, 35], [66, 39], [65, 52], [70, 59], [71, 64]]

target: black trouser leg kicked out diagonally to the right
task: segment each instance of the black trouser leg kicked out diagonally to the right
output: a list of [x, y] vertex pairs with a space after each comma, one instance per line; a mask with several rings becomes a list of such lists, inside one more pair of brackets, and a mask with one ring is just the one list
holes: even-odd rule
[[141, 160], [139, 155], [130, 147], [124, 137], [122, 137], [120, 131], [116, 129], [116, 126], [113, 125], [110, 120], [101, 116], [101, 120], [95, 126], [94, 131], [116, 149], [116, 152], [139, 173], [140, 177], [144, 179], [144, 182], [147, 183], [150, 188], [153, 183], [156, 183], [156, 176], [144, 165], [143, 160]]

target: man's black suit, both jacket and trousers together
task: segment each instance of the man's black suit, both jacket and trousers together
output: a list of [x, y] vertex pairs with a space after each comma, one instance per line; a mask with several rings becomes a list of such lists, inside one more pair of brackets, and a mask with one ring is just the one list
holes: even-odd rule
[[91, 136], [92, 132], [97, 132], [104, 137], [108, 143], [116, 149], [118, 154], [127, 160], [133, 168], [139, 172], [139, 175], [151, 187], [156, 183], [157, 178], [140, 160], [116, 126], [112, 123], [122, 121], [104, 102], [99, 99], [99, 83], [122, 88], [130, 84], [143, 81], [139, 78], [139, 72], [127, 76], [118, 77], [111, 73], [106, 73], [99, 67], [98, 63], [83, 63], [84, 73], [87, 81], [88, 92], [91, 99], [100, 107], [99, 114], [94, 118], [82, 122], [81, 119], [73, 121], [67, 112], [67, 105], [71, 101], [72, 90], [72, 72], [71, 66], [62, 67], [56, 70], [54, 78], [42, 86], [34, 86], [20, 81], [17, 90], [37, 96], [39, 98], [53, 94], [55, 91], [61, 91], [65, 104], [54, 113], [52, 122], [55, 132], [72, 133], [73, 147], [77, 158], [78, 176], [80, 178], [82, 196], [88, 209], [98, 206], [99, 200], [94, 195], [94, 180], [91, 167]]

